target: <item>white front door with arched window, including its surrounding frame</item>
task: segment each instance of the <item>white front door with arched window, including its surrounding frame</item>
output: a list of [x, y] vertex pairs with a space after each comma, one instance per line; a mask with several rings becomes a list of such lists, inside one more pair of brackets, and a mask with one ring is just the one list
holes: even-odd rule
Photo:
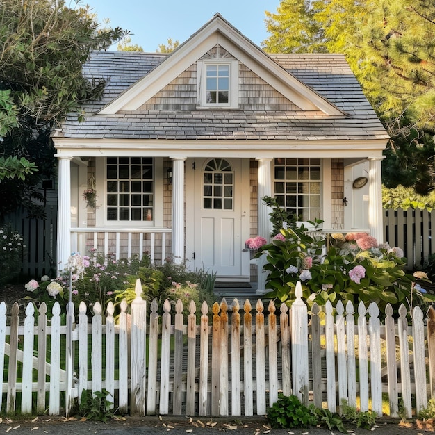
[[188, 159], [186, 256], [192, 270], [249, 280], [249, 161]]

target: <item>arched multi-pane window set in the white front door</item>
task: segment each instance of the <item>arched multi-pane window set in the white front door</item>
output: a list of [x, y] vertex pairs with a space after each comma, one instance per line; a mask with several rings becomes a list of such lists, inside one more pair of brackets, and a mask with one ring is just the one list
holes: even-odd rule
[[232, 210], [234, 174], [231, 165], [222, 158], [213, 158], [204, 168], [203, 174], [204, 209]]

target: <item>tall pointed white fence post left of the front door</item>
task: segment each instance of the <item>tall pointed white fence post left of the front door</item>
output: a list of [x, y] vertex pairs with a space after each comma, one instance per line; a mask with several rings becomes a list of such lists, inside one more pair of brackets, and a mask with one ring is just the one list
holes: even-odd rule
[[145, 416], [145, 352], [147, 340], [147, 303], [142, 285], [136, 280], [136, 298], [131, 302], [131, 414]]

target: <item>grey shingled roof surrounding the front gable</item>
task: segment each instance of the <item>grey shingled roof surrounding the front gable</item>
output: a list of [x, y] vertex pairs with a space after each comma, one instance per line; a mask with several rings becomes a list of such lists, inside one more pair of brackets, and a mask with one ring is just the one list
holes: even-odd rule
[[96, 52], [83, 73], [106, 80], [99, 101], [83, 106], [85, 121], [67, 116], [54, 133], [63, 138], [165, 140], [377, 140], [388, 135], [340, 54], [274, 54], [279, 65], [342, 115], [320, 111], [238, 109], [135, 110], [101, 115], [99, 110], [159, 65], [166, 54]]

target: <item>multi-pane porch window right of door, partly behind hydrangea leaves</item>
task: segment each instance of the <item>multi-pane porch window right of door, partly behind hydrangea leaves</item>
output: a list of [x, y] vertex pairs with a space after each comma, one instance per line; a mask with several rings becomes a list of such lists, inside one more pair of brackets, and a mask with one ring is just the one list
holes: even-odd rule
[[320, 219], [320, 158], [275, 158], [274, 195], [278, 204], [299, 220]]

